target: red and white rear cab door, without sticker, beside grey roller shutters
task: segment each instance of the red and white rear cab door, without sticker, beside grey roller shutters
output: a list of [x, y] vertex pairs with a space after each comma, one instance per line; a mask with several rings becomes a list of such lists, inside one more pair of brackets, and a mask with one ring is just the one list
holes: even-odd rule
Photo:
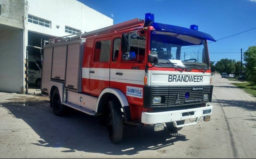
[[91, 95], [99, 96], [101, 91], [110, 85], [110, 53], [111, 38], [95, 40], [89, 69]]

